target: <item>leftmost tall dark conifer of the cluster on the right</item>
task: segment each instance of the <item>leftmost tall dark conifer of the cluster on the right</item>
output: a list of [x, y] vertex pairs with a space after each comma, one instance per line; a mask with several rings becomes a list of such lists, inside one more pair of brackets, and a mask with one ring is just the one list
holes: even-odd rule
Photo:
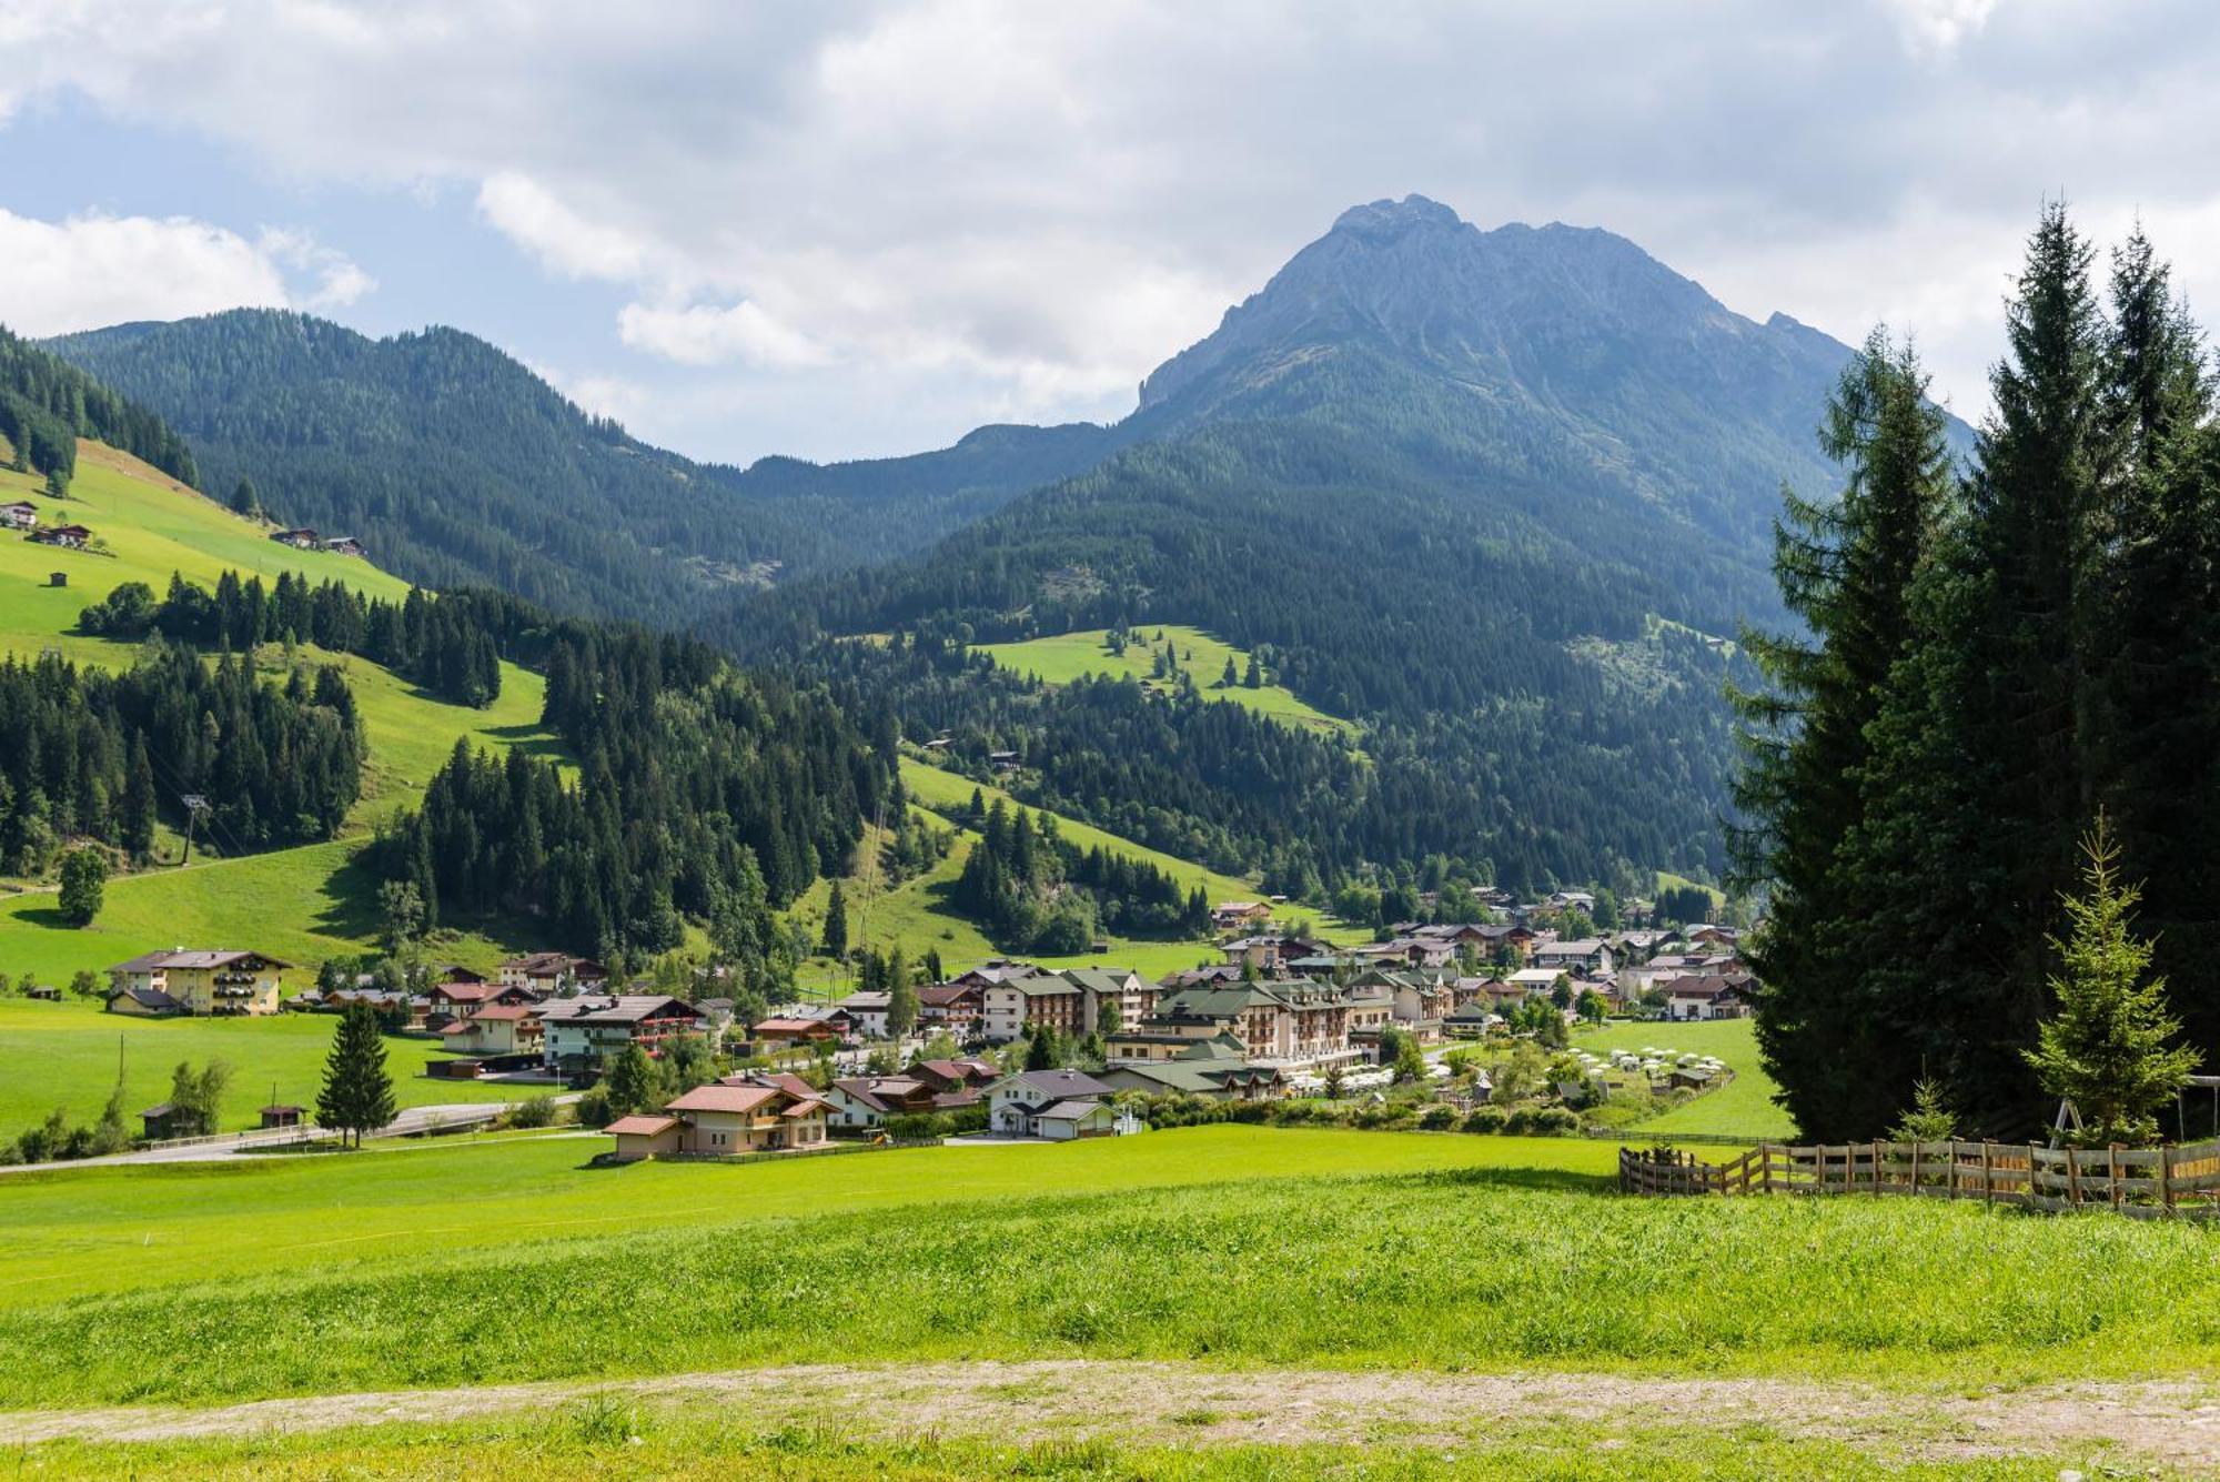
[[1758, 1043], [1807, 1134], [1874, 1129], [1889, 1109], [1863, 1052], [1869, 961], [1858, 932], [1860, 881], [1840, 845], [1863, 816], [1867, 725], [1914, 637], [1909, 588], [1949, 495], [1943, 413], [1909, 346], [1874, 331], [1827, 404], [1823, 448], [1843, 497], [1785, 495], [1774, 572], [1805, 635], [1747, 635], [1769, 681], [1734, 692], [1745, 763], [1734, 836], [1747, 881], [1772, 881], [1767, 932], [1752, 961], [1767, 994]]

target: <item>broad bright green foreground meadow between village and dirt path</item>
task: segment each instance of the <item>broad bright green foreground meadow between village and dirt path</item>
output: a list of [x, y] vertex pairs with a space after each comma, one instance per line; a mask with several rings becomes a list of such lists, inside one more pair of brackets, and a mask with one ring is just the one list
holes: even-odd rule
[[577, 1171], [586, 1151], [11, 1187], [0, 1407], [895, 1356], [1982, 1389], [2220, 1364], [2211, 1231], [1632, 1200], [1563, 1169], [1610, 1145], [1212, 1127]]

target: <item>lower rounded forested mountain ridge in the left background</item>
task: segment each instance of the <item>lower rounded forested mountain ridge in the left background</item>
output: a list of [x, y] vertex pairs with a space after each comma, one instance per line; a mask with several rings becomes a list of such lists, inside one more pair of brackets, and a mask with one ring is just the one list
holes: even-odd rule
[[588, 417], [455, 328], [369, 339], [240, 308], [49, 344], [169, 417], [218, 495], [244, 477], [286, 524], [353, 535], [411, 581], [604, 617], [668, 619], [781, 570], [915, 550], [1119, 441], [1008, 426], [908, 459], [737, 470]]

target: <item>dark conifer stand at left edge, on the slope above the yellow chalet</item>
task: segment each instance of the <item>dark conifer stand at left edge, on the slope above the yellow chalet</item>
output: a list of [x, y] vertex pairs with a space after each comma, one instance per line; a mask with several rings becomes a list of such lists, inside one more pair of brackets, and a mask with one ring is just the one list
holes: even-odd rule
[[0, 659], [0, 867], [38, 874], [67, 839], [133, 859], [162, 816], [231, 847], [329, 839], [362, 790], [362, 728], [333, 668], [262, 681], [226, 654], [153, 646], [109, 674], [67, 659]]

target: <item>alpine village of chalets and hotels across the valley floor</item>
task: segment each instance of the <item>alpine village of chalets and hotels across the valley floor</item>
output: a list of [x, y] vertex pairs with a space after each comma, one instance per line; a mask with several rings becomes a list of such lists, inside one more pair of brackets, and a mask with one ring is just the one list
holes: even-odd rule
[[[608, 1160], [737, 1158], [948, 1136], [1081, 1140], [1192, 1120], [1570, 1131], [1614, 1100], [1643, 1112], [1721, 1085], [1716, 1058], [1647, 1047], [1607, 1056], [1570, 1027], [1745, 1018], [1740, 932], [1696, 923], [1565, 936], [1592, 899], [1561, 892], [1481, 923], [1401, 923], [1332, 945], [1281, 921], [1285, 903], [1212, 910], [1210, 965], [1150, 981], [1126, 967], [988, 958], [939, 983], [739, 1014], [717, 974], [699, 992], [610, 983], [602, 963], [533, 952], [493, 974], [420, 965], [420, 987], [322, 974], [255, 950], [155, 950], [107, 970], [104, 1007], [138, 1018], [342, 1014], [435, 1041], [426, 1076], [562, 1092], [608, 1138]], [[1669, 1036], [1667, 1036], [1669, 1038]], [[144, 1140], [173, 1136], [142, 1109]], [[309, 1120], [262, 1109], [264, 1129]], [[1325, 1114], [1334, 1120], [1334, 1114]], [[1618, 1118], [1625, 1120], [1625, 1118]], [[1605, 1123], [1616, 1125], [1616, 1123]]]

